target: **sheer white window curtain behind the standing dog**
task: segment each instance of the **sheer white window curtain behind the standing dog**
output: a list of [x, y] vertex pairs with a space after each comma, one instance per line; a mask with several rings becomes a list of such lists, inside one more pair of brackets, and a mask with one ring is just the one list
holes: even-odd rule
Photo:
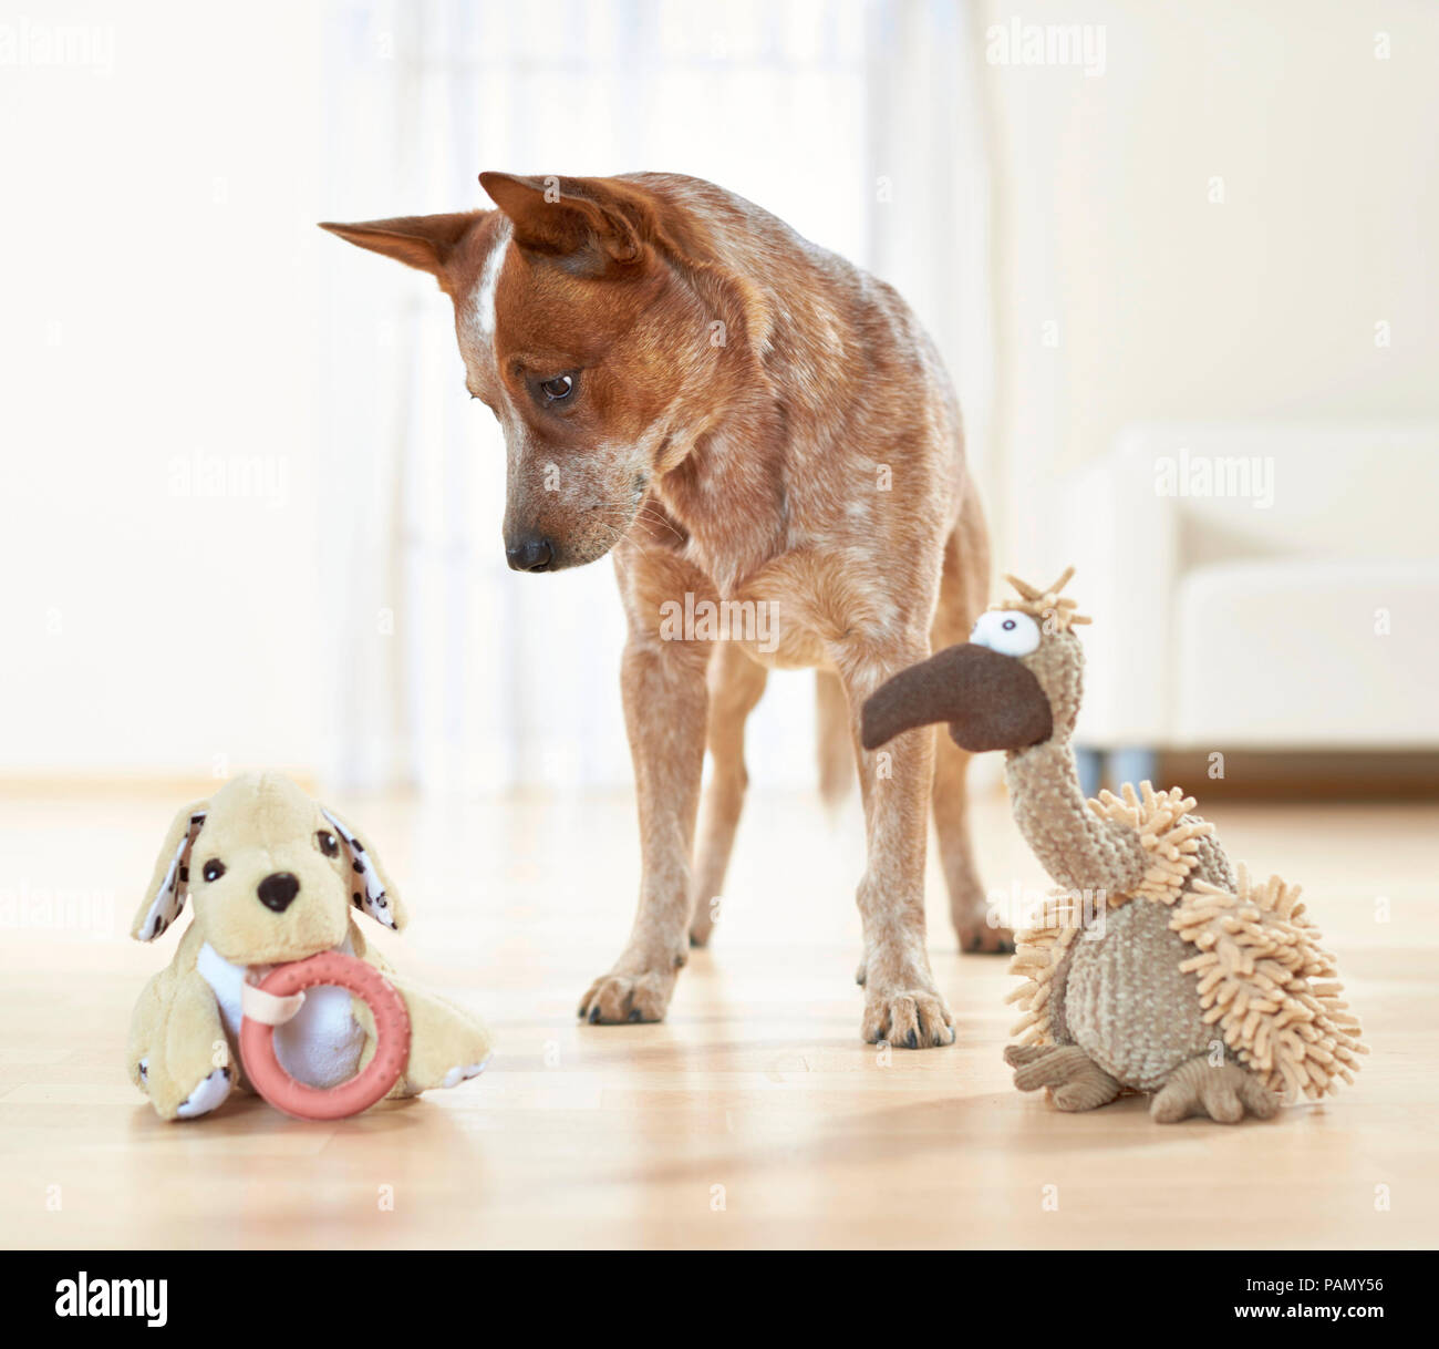
[[[899, 287], [989, 432], [987, 184], [961, 0], [334, 3], [334, 219], [488, 204], [484, 168], [712, 179]], [[609, 563], [505, 567], [504, 461], [449, 302], [335, 243], [325, 549], [345, 654], [331, 775], [484, 792], [630, 780]], [[812, 680], [773, 677], [757, 780], [813, 780]]]

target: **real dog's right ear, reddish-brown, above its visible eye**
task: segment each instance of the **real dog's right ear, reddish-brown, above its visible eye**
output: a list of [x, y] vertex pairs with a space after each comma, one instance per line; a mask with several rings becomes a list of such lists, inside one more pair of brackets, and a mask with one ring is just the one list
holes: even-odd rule
[[607, 271], [643, 255], [642, 202], [622, 184], [515, 173], [482, 173], [479, 181], [509, 217], [521, 248], [561, 259], [570, 271]]

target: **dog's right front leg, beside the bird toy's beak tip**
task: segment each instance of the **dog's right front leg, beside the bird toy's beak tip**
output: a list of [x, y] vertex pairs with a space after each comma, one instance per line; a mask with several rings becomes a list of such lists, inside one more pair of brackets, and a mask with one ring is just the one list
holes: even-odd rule
[[894, 672], [911, 664], [914, 651], [875, 652], [861, 646], [837, 657], [849, 697], [859, 783], [865, 799], [869, 860], [859, 883], [859, 914], [865, 924], [865, 1015], [861, 1034], [908, 1050], [954, 1042], [950, 1015], [930, 972], [924, 939], [925, 818], [934, 776], [934, 730], [907, 731], [884, 749], [859, 743], [865, 700]]

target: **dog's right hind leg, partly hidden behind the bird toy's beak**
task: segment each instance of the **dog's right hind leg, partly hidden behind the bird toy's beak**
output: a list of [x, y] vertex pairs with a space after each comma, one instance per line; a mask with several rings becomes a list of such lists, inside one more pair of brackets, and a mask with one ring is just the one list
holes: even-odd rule
[[[974, 619], [989, 592], [989, 543], [979, 501], [971, 491], [960, 520], [944, 546], [940, 603], [930, 629], [930, 645], [943, 651], [968, 639]], [[950, 891], [950, 921], [960, 950], [1007, 952], [1014, 934], [991, 927], [987, 920], [984, 887], [974, 868], [970, 839], [968, 766], [971, 754], [961, 750], [941, 727], [934, 762], [934, 838], [940, 848], [944, 883]]]

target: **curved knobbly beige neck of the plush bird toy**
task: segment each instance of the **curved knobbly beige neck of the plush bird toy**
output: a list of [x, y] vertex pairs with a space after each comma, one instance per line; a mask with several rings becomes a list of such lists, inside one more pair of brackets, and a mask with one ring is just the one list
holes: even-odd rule
[[1089, 809], [1068, 739], [1010, 750], [1004, 775], [1014, 824], [1059, 885], [1115, 895], [1140, 883], [1145, 868], [1140, 839]]

